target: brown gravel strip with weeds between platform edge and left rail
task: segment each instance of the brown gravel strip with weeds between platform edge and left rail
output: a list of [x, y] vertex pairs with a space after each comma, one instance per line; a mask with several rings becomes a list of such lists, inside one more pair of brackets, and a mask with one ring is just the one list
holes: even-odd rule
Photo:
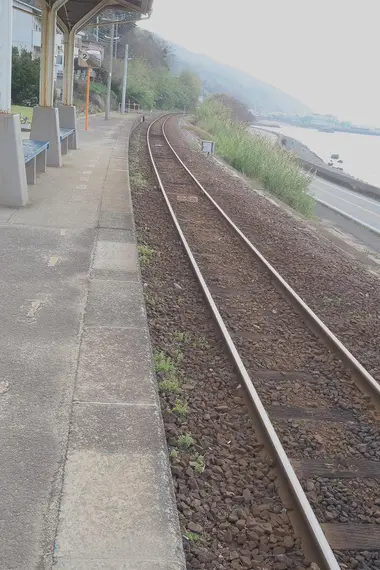
[[[257, 440], [239, 379], [157, 188], [145, 132], [144, 125], [131, 140], [133, 207], [139, 243], [153, 250], [144, 250], [141, 269], [156, 362], [162, 364], [161, 352], [169, 356], [171, 377], [180, 384], [178, 394], [161, 384], [160, 399], [187, 567], [314, 569], [279, 498], [276, 471]], [[168, 378], [165, 370], [157, 376], [159, 384]], [[181, 435], [193, 438], [188, 449], [179, 445], [188, 442]]]

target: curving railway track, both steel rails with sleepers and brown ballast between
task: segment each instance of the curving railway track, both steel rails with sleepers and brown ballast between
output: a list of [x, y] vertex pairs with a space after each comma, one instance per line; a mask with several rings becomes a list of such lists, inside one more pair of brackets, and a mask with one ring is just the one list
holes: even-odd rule
[[149, 126], [152, 164], [302, 534], [321, 567], [380, 568], [378, 384], [181, 162], [170, 120]]

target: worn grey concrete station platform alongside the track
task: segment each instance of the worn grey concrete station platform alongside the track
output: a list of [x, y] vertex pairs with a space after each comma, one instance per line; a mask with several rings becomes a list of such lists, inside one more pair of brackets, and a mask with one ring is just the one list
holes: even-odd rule
[[0, 209], [0, 569], [184, 570], [128, 188], [91, 119]]

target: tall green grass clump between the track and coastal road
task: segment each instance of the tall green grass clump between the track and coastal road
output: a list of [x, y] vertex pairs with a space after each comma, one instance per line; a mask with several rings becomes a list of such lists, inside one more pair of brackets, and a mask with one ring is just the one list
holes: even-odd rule
[[309, 193], [311, 178], [295, 156], [255, 136], [247, 125], [233, 121], [230, 111], [220, 103], [205, 101], [197, 116], [199, 127], [212, 134], [221, 158], [298, 212], [312, 215], [315, 202]]

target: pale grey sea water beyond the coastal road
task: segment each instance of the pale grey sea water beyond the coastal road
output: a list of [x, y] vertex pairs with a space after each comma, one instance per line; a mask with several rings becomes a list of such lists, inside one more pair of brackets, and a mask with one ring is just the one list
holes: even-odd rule
[[332, 154], [339, 154], [342, 163], [334, 160], [335, 166], [364, 182], [380, 187], [380, 137], [351, 133], [324, 133], [316, 129], [305, 129], [284, 125], [273, 128], [285, 136], [299, 140], [328, 163]]

